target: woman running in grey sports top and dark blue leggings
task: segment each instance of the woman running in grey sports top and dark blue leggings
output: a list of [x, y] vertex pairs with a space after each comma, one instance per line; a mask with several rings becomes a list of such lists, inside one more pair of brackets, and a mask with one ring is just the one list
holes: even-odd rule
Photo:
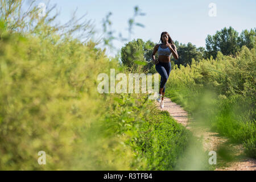
[[[179, 59], [179, 56], [177, 54], [176, 46], [168, 32], [162, 32], [160, 41], [162, 44], [156, 44], [151, 58], [155, 64], [156, 71], [161, 76], [159, 97], [156, 100], [160, 102], [160, 107], [163, 108], [164, 93], [166, 92], [166, 82], [171, 72], [171, 54], [174, 55], [175, 59]], [[156, 51], [158, 51], [158, 60], [155, 60]]]

